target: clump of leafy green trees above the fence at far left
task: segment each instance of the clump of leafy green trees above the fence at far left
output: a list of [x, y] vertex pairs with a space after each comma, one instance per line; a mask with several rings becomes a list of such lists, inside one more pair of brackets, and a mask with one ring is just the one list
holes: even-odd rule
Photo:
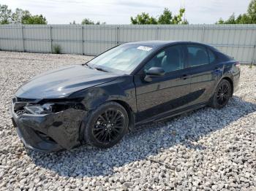
[[12, 13], [7, 5], [0, 4], [0, 24], [22, 23], [22, 24], [47, 24], [47, 20], [42, 15], [31, 15], [28, 10], [15, 9]]

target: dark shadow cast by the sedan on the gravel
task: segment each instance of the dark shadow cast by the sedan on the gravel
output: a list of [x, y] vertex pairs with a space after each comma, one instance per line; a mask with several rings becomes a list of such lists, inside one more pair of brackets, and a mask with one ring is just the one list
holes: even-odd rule
[[165, 149], [172, 150], [176, 144], [182, 144], [188, 149], [206, 149], [197, 141], [255, 111], [256, 104], [233, 96], [223, 109], [206, 107], [165, 122], [140, 126], [110, 149], [84, 145], [63, 152], [27, 153], [35, 165], [59, 176], [108, 176], [129, 163], [150, 160]]

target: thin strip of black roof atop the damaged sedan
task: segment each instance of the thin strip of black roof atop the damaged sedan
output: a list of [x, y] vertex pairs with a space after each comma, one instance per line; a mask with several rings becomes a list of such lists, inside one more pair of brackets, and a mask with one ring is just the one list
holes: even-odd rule
[[154, 40], [154, 41], [138, 41], [138, 42], [127, 42], [124, 44], [129, 45], [141, 45], [141, 46], [150, 46], [150, 47], [165, 47], [170, 44], [178, 44], [178, 43], [187, 43], [187, 44], [202, 44], [208, 46], [208, 44], [203, 44], [199, 42], [191, 42], [191, 41], [160, 41], [160, 40]]

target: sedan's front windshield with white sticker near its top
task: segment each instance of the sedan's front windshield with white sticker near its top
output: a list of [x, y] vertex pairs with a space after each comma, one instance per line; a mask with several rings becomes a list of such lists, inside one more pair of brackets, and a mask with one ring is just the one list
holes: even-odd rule
[[130, 74], [152, 51], [152, 47], [123, 44], [104, 52], [87, 63], [94, 69]]

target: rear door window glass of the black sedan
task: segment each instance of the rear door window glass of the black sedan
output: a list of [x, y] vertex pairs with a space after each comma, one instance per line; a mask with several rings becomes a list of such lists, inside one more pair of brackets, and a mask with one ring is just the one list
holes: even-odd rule
[[199, 45], [187, 45], [189, 66], [200, 66], [209, 63], [208, 53], [205, 47]]

